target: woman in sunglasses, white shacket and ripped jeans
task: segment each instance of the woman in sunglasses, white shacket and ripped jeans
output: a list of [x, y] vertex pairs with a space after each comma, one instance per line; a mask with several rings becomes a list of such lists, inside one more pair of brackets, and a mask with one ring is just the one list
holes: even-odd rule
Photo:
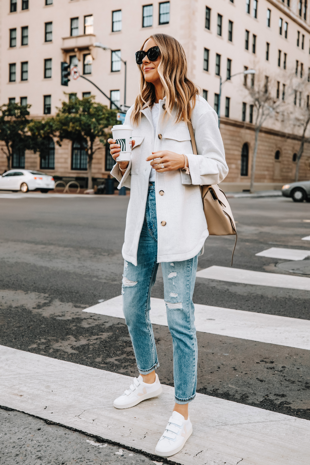
[[[150, 322], [150, 297], [158, 263], [164, 278], [167, 320], [173, 340], [175, 405], [155, 453], [179, 452], [192, 433], [188, 404], [196, 395], [197, 339], [194, 291], [198, 256], [208, 229], [200, 186], [218, 184], [228, 173], [218, 117], [186, 77], [183, 47], [173, 37], [154, 34], [136, 53], [140, 93], [128, 110], [131, 161], [118, 162], [111, 174], [131, 188], [122, 280], [123, 311], [132, 339], [139, 378], [114, 401], [129, 408], [162, 392]], [[193, 154], [192, 123], [198, 155]], [[117, 161], [120, 146], [109, 139]]]

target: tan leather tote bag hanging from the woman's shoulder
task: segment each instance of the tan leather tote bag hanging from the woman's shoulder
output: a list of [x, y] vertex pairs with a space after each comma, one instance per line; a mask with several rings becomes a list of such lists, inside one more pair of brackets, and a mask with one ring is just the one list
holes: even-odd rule
[[[197, 155], [196, 142], [191, 122], [188, 123], [188, 129], [191, 134], [193, 153]], [[217, 184], [201, 186], [201, 197], [209, 234], [211, 236], [236, 236], [235, 246], [231, 255], [232, 266], [232, 259], [237, 244], [237, 230], [227, 197]]]

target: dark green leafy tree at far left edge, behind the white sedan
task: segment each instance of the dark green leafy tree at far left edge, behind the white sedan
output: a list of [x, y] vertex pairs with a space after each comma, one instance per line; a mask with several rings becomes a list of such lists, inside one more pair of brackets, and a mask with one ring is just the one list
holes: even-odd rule
[[31, 140], [27, 130], [30, 106], [18, 103], [7, 103], [0, 106], [0, 140], [5, 143], [7, 149], [4, 150], [1, 147], [1, 150], [7, 157], [7, 170], [11, 168], [13, 153], [31, 148]]

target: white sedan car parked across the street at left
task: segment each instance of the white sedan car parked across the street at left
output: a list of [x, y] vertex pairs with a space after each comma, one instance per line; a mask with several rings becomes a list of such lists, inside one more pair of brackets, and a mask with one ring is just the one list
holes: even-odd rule
[[40, 171], [22, 170], [20, 168], [0, 175], [0, 191], [41, 191], [48, 192], [55, 187], [53, 176]]

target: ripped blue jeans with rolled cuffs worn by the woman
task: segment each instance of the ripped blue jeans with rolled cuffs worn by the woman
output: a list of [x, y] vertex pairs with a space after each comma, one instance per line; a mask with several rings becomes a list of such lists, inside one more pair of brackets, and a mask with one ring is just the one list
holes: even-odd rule
[[[139, 239], [138, 266], [125, 260], [122, 281], [123, 312], [138, 369], [142, 374], [150, 373], [159, 366], [150, 321], [151, 290], [158, 270], [154, 184], [149, 183], [145, 219]], [[173, 341], [173, 378], [177, 404], [187, 404], [196, 395], [198, 349], [192, 295], [198, 255], [185, 261], [161, 264], [167, 320]]]

